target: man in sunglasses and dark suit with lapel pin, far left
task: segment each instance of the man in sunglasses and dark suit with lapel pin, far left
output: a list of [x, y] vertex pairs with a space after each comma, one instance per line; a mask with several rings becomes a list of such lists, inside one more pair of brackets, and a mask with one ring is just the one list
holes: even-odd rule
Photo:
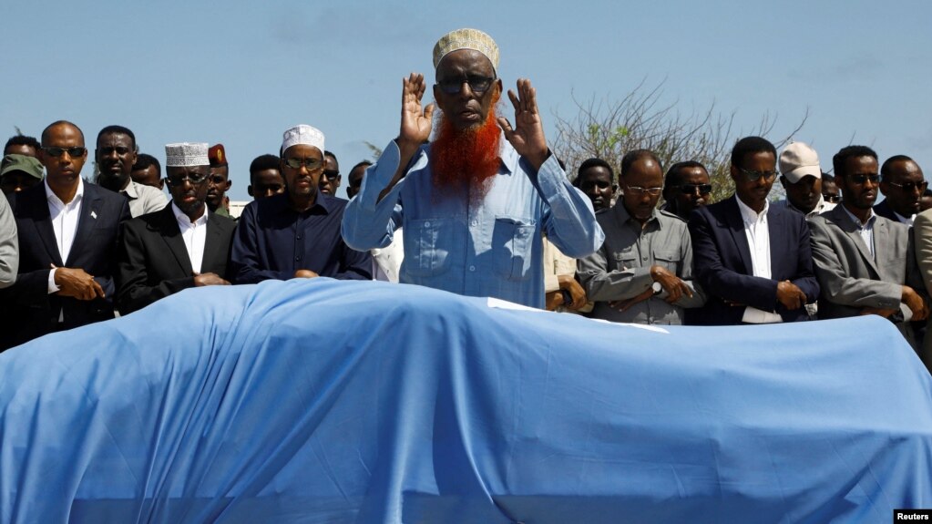
[[20, 271], [8, 288], [0, 347], [114, 317], [117, 240], [130, 218], [126, 197], [81, 180], [84, 133], [63, 120], [42, 131], [43, 184], [10, 202], [20, 241]]

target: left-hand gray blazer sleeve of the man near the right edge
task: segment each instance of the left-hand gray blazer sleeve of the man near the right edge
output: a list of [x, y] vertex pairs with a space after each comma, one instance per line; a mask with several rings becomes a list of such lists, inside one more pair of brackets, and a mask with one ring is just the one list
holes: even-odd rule
[[843, 247], [833, 245], [829, 231], [832, 225], [824, 217], [816, 216], [809, 227], [816, 277], [826, 300], [853, 308], [899, 309], [901, 285], [850, 276], [839, 255], [844, 252]]

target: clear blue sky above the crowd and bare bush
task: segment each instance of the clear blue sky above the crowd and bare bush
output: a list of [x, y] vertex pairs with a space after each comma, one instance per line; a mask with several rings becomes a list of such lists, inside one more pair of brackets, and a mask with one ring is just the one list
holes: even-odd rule
[[249, 162], [298, 123], [326, 134], [345, 185], [364, 142], [397, 134], [401, 78], [432, 79], [434, 42], [459, 27], [496, 39], [507, 87], [531, 79], [550, 139], [574, 96], [664, 82], [665, 101], [687, 113], [716, 103], [737, 129], [775, 117], [772, 139], [808, 110], [795, 139], [823, 169], [855, 143], [932, 172], [923, 1], [38, 1], [4, 2], [0, 20], [0, 138], [65, 118], [90, 146], [125, 125], [159, 159], [167, 143], [222, 142], [233, 200], [248, 200]]

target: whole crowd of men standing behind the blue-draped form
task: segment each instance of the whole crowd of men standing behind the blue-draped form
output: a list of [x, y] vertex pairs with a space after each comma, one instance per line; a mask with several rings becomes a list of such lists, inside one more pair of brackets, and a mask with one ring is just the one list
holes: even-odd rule
[[[322, 131], [284, 131], [250, 165], [254, 198], [230, 218], [223, 145], [140, 153], [107, 126], [89, 156], [74, 123], [11, 138], [0, 166], [0, 349], [126, 315], [190, 287], [269, 279], [385, 280], [638, 324], [774, 324], [879, 315], [923, 357], [932, 205], [922, 170], [850, 145], [822, 171], [809, 145], [733, 147], [733, 195], [706, 166], [650, 150], [620, 172], [587, 159], [570, 177], [519, 79], [499, 114], [499, 48], [462, 29], [403, 81], [400, 131], [349, 171]], [[439, 111], [435, 112], [435, 109]], [[771, 200], [779, 179], [786, 200]], [[171, 200], [165, 197], [167, 188]], [[876, 204], [879, 193], [884, 200]], [[9, 200], [7, 204], [7, 199]]]

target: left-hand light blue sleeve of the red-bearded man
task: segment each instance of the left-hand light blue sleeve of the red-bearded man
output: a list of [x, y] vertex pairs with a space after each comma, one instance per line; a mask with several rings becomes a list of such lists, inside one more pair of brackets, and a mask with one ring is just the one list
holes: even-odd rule
[[[426, 165], [423, 149], [415, 156], [413, 167]], [[403, 210], [400, 202], [404, 179], [400, 180], [382, 200], [378, 196], [391, 183], [401, 163], [401, 151], [394, 141], [385, 147], [378, 161], [365, 170], [359, 194], [349, 200], [343, 214], [343, 241], [352, 249], [368, 252], [391, 243], [395, 229], [402, 227]]]

